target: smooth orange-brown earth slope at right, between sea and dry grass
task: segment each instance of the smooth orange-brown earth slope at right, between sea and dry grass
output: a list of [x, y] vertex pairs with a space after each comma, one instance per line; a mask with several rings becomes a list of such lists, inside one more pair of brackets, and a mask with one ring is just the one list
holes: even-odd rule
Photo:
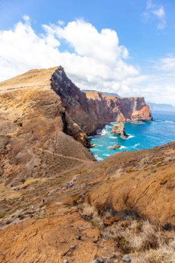
[[114, 154], [103, 165], [110, 178], [90, 192], [93, 206], [134, 210], [156, 224], [175, 225], [175, 143]]

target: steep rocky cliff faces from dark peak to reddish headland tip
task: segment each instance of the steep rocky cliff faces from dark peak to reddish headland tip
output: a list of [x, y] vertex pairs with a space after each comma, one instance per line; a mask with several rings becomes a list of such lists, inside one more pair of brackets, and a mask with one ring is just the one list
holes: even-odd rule
[[[151, 111], [144, 98], [109, 97], [97, 91], [84, 93], [67, 78], [61, 66], [51, 77], [51, 87], [59, 95], [66, 109], [67, 132], [76, 140], [81, 141], [81, 138], [77, 131], [74, 131], [75, 125], [85, 134], [91, 135], [96, 129], [116, 120], [152, 120]], [[83, 140], [82, 142], [84, 143]], [[87, 141], [84, 145], [88, 145]]]

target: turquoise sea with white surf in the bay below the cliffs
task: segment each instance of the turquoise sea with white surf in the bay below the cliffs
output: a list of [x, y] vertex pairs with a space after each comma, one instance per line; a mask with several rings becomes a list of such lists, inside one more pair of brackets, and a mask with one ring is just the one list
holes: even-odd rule
[[[111, 134], [114, 123], [106, 125], [102, 129], [102, 135], [89, 137], [91, 143], [96, 145], [91, 148], [95, 158], [102, 161], [115, 152], [149, 149], [175, 140], [175, 112], [154, 111], [152, 115], [154, 118], [152, 123], [125, 123], [125, 131], [129, 134], [129, 138], [125, 140]], [[121, 146], [120, 149], [107, 149], [116, 143]]]

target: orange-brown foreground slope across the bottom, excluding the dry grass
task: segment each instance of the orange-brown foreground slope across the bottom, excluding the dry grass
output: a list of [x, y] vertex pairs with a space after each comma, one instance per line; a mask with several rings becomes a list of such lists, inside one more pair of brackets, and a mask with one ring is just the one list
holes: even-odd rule
[[[118, 215], [119, 222], [109, 227], [109, 231], [115, 227], [121, 231], [120, 224], [144, 217], [153, 224], [174, 226], [174, 156], [175, 143], [169, 143], [114, 154], [100, 163], [90, 166], [84, 163], [84, 167], [59, 176], [55, 172], [52, 178], [27, 180], [17, 188], [7, 186], [1, 192], [1, 262], [62, 263], [67, 259], [89, 263], [95, 257], [109, 256], [111, 260], [105, 262], [119, 262], [117, 259], [123, 255], [118, 251], [120, 243], [112, 234], [109, 239], [99, 238], [100, 232], [104, 235], [108, 227], [101, 223], [98, 226], [94, 219], [86, 221], [86, 213], [82, 217], [78, 210], [80, 203], [86, 201], [96, 206], [101, 216], [106, 212], [111, 217]], [[55, 163], [57, 160], [59, 156]], [[70, 181], [73, 188], [62, 191]], [[6, 213], [2, 214], [4, 210]]]

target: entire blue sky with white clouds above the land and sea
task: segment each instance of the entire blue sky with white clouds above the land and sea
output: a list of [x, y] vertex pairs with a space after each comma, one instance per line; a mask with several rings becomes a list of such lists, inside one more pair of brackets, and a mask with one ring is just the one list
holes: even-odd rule
[[174, 0], [0, 0], [0, 81], [62, 65], [80, 89], [175, 106]]

